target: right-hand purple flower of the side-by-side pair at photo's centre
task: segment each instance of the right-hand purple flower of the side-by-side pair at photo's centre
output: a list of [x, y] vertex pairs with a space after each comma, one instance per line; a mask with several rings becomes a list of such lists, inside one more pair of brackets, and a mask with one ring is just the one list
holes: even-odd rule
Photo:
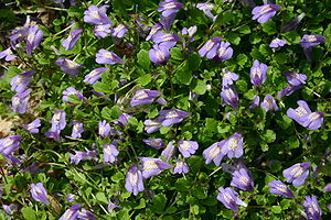
[[180, 123], [183, 119], [190, 117], [190, 113], [179, 109], [161, 110], [159, 113], [158, 121], [162, 121], [163, 127]]

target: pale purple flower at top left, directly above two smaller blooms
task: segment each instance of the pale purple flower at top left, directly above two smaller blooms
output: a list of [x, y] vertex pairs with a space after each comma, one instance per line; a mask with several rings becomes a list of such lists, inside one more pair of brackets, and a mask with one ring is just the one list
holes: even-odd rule
[[[105, 8], [106, 9], [106, 8]], [[96, 6], [88, 7], [88, 10], [84, 12], [84, 22], [92, 24], [110, 24], [113, 22], [106, 14], [106, 10], [97, 8]]]

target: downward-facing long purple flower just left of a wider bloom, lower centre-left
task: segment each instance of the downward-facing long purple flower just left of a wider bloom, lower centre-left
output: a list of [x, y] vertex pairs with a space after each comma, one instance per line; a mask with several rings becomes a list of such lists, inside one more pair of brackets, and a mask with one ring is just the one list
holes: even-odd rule
[[126, 189], [135, 196], [143, 191], [142, 174], [136, 165], [131, 166], [126, 177]]

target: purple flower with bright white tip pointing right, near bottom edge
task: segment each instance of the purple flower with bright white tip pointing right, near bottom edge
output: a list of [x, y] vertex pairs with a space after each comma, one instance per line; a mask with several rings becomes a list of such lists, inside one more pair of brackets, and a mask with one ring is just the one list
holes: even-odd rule
[[217, 195], [217, 200], [221, 201], [227, 209], [233, 211], [238, 211], [238, 205], [246, 207], [247, 205], [242, 201], [238, 194], [229, 187], [218, 188], [220, 193]]

